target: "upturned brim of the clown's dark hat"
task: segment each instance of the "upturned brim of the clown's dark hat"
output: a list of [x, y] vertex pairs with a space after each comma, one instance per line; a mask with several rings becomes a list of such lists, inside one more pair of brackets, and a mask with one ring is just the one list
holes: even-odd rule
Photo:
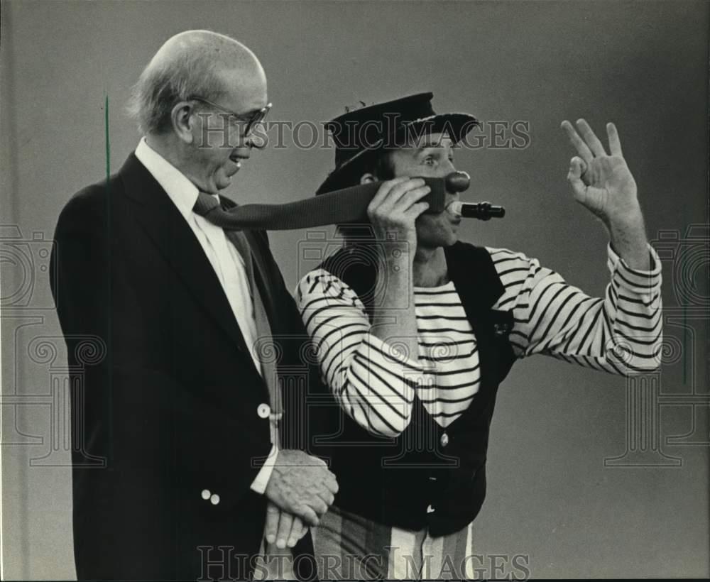
[[396, 139], [393, 140], [392, 138], [400, 136], [401, 133], [407, 133], [409, 136], [424, 137], [427, 133], [447, 132], [453, 143], [459, 143], [477, 125], [479, 125], [479, 121], [474, 116], [466, 113], [443, 113], [408, 121], [403, 126], [400, 126], [398, 132], [393, 136], [389, 136], [389, 139], [385, 138], [374, 144], [373, 147], [359, 151], [352, 158], [349, 158], [349, 160], [346, 160], [346, 162], [330, 172], [318, 190], [316, 190], [316, 196], [355, 185], [356, 180], [359, 179], [356, 174], [362, 170], [364, 163], [368, 159], [367, 155], [383, 148], [398, 147]]

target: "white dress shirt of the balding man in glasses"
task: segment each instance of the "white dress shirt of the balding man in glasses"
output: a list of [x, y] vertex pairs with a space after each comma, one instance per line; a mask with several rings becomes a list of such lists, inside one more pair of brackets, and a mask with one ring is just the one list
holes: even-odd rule
[[[255, 343], [258, 334], [256, 333], [256, 321], [254, 319], [254, 304], [249, 290], [249, 277], [246, 274], [244, 258], [242, 258], [236, 247], [226, 238], [224, 230], [205, 219], [203, 216], [192, 212], [192, 208], [197, 202], [197, 195], [200, 193], [197, 187], [185, 177], [185, 175], [175, 168], [162, 155], [148, 146], [146, 138], [141, 139], [136, 148], [136, 158], [146, 167], [148, 172], [163, 187], [175, 207], [178, 208], [187, 224], [195, 234], [200, 243], [205, 256], [214, 269], [214, 273], [219, 279], [224, 295], [229, 301], [244, 341], [249, 347], [249, 352], [253, 358], [256, 369], [261, 370], [256, 352]], [[219, 200], [217, 194], [213, 194]], [[272, 430], [272, 441], [275, 439], [275, 432]], [[278, 452], [277, 443], [272, 442], [271, 453], [268, 460], [259, 471], [256, 479], [251, 484], [251, 488], [263, 495], [266, 491], [266, 484], [271, 477], [273, 463]]]

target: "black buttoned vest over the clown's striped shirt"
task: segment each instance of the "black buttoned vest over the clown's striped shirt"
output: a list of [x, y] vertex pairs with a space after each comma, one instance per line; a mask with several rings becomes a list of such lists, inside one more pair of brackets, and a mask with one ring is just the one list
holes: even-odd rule
[[[408, 428], [397, 438], [386, 438], [368, 433], [340, 407], [335, 413], [331, 402], [330, 418], [338, 422], [331, 422], [331, 434], [315, 446], [338, 478], [335, 505], [385, 525], [428, 527], [433, 536], [457, 532], [481, 509], [496, 392], [515, 360], [508, 342], [513, 315], [491, 309], [503, 284], [488, 251], [459, 242], [445, 253], [479, 348], [481, 384], [469, 408], [444, 429], [415, 397]], [[320, 267], [349, 285], [369, 313], [376, 265], [361, 258], [344, 248]]]

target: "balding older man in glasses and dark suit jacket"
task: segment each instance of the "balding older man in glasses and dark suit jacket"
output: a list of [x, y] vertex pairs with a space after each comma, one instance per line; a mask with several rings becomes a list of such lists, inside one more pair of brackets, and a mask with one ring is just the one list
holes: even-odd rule
[[[303, 332], [266, 235], [205, 218], [234, 206], [218, 193], [261, 145], [266, 77], [236, 40], [187, 31], [132, 105], [143, 138], [67, 203], [51, 264], [76, 387], [77, 576], [246, 579], [267, 512], [268, 541], [293, 547], [337, 491], [325, 463], [279, 442], [300, 420], [280, 366], [299, 358], [266, 356]], [[103, 354], [93, 365], [87, 341]]]

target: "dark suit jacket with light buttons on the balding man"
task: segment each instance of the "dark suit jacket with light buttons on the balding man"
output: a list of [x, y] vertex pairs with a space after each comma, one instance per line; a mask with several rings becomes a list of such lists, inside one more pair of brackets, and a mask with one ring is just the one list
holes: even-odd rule
[[[305, 337], [266, 234], [248, 236], [274, 336]], [[135, 155], [67, 203], [50, 270], [74, 370], [78, 577], [246, 578], [265, 519], [250, 485], [271, 449], [257, 412], [268, 391], [200, 243]], [[286, 352], [279, 369], [302, 359]]]

